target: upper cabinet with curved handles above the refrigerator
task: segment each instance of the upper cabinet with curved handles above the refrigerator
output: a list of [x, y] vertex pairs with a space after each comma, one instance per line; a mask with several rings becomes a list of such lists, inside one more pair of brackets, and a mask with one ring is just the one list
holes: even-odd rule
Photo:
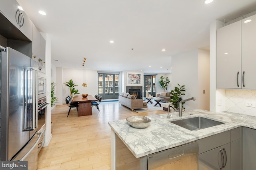
[[16, 0], [0, 0], [0, 4], [1, 13], [32, 41], [33, 23], [24, 11], [18, 9], [18, 2]]

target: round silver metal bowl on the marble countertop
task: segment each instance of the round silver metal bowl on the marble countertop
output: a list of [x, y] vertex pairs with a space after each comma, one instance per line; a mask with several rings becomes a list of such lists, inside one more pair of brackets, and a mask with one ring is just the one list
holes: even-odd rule
[[129, 125], [135, 128], [146, 128], [150, 125], [151, 120], [145, 116], [130, 116], [126, 118]]

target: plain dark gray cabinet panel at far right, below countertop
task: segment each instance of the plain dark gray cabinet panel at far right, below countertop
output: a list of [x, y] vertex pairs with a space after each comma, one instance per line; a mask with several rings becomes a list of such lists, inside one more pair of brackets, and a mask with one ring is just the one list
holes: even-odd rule
[[243, 170], [256, 168], [256, 130], [243, 128]]

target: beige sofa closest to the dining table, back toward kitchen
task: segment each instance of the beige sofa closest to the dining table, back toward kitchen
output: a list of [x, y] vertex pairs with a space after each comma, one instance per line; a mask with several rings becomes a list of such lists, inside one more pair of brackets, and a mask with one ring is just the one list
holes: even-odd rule
[[143, 99], [136, 99], [135, 96], [130, 95], [129, 93], [120, 93], [118, 96], [119, 104], [122, 104], [130, 109], [148, 109], [147, 102]]

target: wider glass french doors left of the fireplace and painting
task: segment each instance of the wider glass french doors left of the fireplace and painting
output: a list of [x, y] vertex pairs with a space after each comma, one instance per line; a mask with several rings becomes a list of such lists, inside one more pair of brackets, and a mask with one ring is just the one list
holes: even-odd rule
[[98, 73], [98, 95], [102, 99], [118, 99], [119, 74]]

